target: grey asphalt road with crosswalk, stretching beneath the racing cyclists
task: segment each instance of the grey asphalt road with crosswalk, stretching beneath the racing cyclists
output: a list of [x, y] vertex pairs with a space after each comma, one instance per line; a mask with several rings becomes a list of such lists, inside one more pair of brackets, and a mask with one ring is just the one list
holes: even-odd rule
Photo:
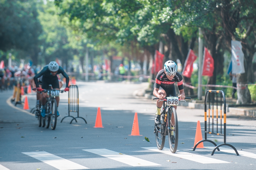
[[[55, 130], [38, 127], [33, 114], [14, 107], [9, 101], [12, 91], [0, 93], [0, 170], [64, 169], [256, 169], [256, 119], [227, 115], [227, 143], [211, 156], [211, 143], [192, 151], [197, 120], [204, 129], [204, 111], [178, 106], [179, 145], [171, 154], [168, 139], [159, 152], [153, 134], [155, 101], [133, 96], [146, 83], [77, 82], [79, 116], [70, 124], [68, 93], [61, 94]], [[28, 94], [30, 109], [35, 93]], [[98, 107], [104, 128], [94, 128]], [[141, 136], [130, 136], [135, 112]], [[76, 116], [76, 113], [71, 113]], [[203, 132], [203, 131], [202, 131]], [[148, 137], [147, 142], [144, 137]], [[204, 137], [204, 135], [203, 135]], [[222, 136], [207, 135], [217, 144]], [[182, 144], [181, 144], [182, 143]]]

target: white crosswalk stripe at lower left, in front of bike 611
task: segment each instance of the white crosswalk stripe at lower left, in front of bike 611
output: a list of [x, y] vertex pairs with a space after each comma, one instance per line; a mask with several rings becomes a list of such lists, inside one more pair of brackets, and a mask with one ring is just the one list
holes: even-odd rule
[[45, 151], [41, 152], [22, 152], [23, 154], [26, 154], [28, 156], [31, 156], [33, 158], [36, 158], [37, 160], [40, 160], [44, 163], [47, 163], [48, 165], [51, 165], [59, 170], [72, 170], [72, 169], [89, 169], [87, 167], [84, 167], [82, 165], [79, 165], [75, 162], [66, 160], [64, 158], [61, 158], [59, 156], [50, 154]]

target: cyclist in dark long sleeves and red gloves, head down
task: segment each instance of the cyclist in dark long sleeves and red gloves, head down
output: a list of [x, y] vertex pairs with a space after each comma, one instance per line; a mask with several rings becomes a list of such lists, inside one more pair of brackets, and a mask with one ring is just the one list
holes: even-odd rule
[[[34, 76], [34, 81], [36, 84], [37, 91], [43, 91], [43, 89], [48, 89], [49, 85], [52, 85], [53, 89], [59, 90], [59, 80], [57, 74], [62, 74], [66, 78], [66, 88], [64, 91], [69, 91], [69, 76], [63, 70], [61, 66], [55, 61], [51, 61], [48, 65], [44, 66], [43, 70]], [[38, 78], [42, 77], [42, 88], [38, 85]], [[45, 117], [45, 104], [46, 104], [47, 93], [42, 92], [42, 117]], [[57, 108], [59, 106], [59, 97], [55, 97], [57, 101]], [[57, 111], [57, 116], [59, 116], [59, 111]]]

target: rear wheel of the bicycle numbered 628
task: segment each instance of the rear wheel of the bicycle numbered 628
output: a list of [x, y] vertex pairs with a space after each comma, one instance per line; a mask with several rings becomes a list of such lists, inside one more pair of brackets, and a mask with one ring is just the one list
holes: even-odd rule
[[156, 132], [155, 132], [155, 137], [156, 137], [156, 146], [159, 150], [162, 150], [164, 148], [164, 143], [165, 143], [165, 135], [164, 135], [164, 112], [163, 112], [163, 107], [161, 108], [161, 117], [160, 117], [160, 122], [161, 124], [155, 125]]

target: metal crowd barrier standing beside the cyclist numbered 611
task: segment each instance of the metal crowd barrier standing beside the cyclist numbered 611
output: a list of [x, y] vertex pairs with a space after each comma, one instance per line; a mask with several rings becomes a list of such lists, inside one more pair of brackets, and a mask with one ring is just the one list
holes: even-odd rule
[[[70, 112], [77, 112], [77, 117], [71, 116]], [[77, 85], [71, 84], [69, 86], [69, 115], [63, 117], [63, 119], [65, 119], [66, 117], [73, 117], [70, 124], [72, 123], [72, 121], [74, 119], [77, 122], [76, 118], [81, 118], [85, 121], [85, 123], [87, 123], [84, 118], [79, 117], [79, 98], [78, 98], [78, 86]], [[61, 122], [62, 122], [62, 120], [61, 120]]]

